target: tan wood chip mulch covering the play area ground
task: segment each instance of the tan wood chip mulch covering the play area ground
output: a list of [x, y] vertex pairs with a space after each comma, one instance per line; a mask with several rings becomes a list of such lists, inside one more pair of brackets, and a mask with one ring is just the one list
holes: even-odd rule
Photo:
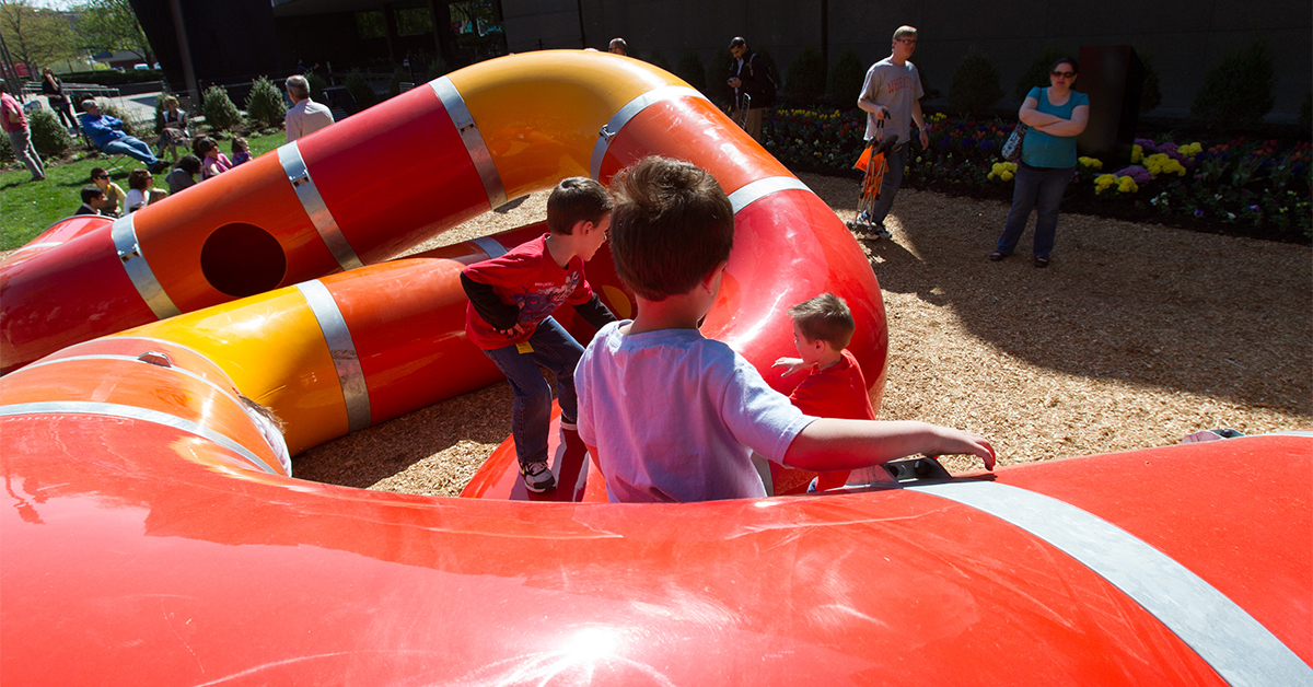
[[[853, 217], [853, 181], [801, 179]], [[545, 201], [534, 193], [415, 252], [542, 219]], [[889, 321], [882, 419], [981, 432], [1004, 465], [1174, 444], [1217, 427], [1313, 428], [1308, 247], [1064, 214], [1046, 269], [1031, 265], [1031, 230], [1015, 256], [990, 263], [1007, 210], [903, 189], [893, 239], [859, 236]], [[307, 451], [294, 473], [457, 495], [509, 426], [500, 382]]]

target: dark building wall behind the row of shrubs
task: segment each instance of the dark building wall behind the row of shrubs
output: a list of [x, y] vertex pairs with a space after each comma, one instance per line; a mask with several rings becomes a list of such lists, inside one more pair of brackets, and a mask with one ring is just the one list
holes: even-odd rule
[[[930, 88], [944, 95], [970, 46], [994, 62], [1012, 102], [1022, 72], [1046, 47], [1078, 55], [1082, 45], [1133, 45], [1153, 58], [1162, 80], [1155, 114], [1186, 116], [1208, 70], [1258, 35], [1276, 64], [1271, 121], [1295, 121], [1313, 85], [1308, 0], [829, 0], [827, 5], [831, 63], [850, 49], [867, 64], [884, 58], [894, 29], [910, 24], [920, 32], [913, 62]], [[685, 50], [695, 51], [709, 81], [727, 70], [734, 35], [768, 51], [781, 74], [804, 47], [822, 42], [822, 0], [502, 0], [502, 9], [511, 51], [540, 45], [605, 50], [611, 38], [621, 35], [630, 54], [660, 51], [671, 64]]]

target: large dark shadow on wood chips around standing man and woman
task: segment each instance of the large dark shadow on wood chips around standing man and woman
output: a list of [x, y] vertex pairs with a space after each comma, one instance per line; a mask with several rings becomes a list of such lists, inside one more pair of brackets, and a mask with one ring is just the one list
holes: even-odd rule
[[[806, 179], [839, 214], [852, 181]], [[951, 307], [1031, 364], [1313, 414], [1306, 247], [1062, 215], [1049, 268], [990, 263], [1007, 205], [899, 192], [894, 239], [865, 240], [881, 288]], [[886, 305], [890, 298], [886, 297]]]

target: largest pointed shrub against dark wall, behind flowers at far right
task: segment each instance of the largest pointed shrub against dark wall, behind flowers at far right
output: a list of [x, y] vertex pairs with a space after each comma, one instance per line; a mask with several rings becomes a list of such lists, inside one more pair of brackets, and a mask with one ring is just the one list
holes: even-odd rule
[[1275, 87], [1272, 55], [1259, 38], [1208, 70], [1190, 113], [1218, 129], [1253, 126], [1272, 112]]

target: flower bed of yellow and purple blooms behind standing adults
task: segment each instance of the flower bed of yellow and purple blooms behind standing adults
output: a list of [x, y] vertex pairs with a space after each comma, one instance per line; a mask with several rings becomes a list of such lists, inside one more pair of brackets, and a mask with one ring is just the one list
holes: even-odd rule
[[[1015, 166], [999, 155], [1012, 125], [928, 114], [930, 147], [913, 144], [903, 185], [1010, 201]], [[776, 109], [762, 118], [767, 150], [800, 171], [860, 176], [865, 113]], [[1081, 158], [1064, 211], [1158, 222], [1272, 240], [1313, 242], [1313, 144], [1245, 137], [1136, 139], [1132, 164]]]

